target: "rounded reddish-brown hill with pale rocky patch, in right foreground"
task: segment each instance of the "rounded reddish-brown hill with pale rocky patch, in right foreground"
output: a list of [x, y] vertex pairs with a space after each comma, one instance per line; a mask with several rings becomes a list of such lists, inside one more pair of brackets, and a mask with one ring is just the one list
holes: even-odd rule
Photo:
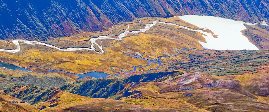
[[[264, 76], [251, 75], [258, 79]], [[126, 83], [126, 88], [133, 93], [121, 100], [156, 110], [190, 111], [189, 108], [194, 107], [196, 111], [269, 111], [268, 97], [252, 95], [248, 91], [254, 88], [245, 88], [243, 83], [260, 80], [248, 79], [249, 75], [234, 77], [193, 72], [161, 82]]]

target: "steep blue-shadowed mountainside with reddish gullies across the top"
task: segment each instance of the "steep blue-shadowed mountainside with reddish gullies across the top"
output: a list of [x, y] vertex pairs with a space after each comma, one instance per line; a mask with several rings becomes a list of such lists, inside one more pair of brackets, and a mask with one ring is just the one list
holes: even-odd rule
[[1, 0], [0, 39], [47, 40], [108, 30], [136, 17], [210, 15], [268, 22], [267, 0]]

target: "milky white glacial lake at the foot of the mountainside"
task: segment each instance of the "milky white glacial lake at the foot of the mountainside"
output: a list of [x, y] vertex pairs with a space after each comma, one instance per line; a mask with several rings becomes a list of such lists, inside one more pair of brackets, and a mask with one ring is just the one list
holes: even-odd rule
[[179, 18], [200, 28], [206, 27], [213, 31], [215, 35], [220, 36], [216, 40], [204, 36], [207, 43], [200, 42], [200, 44], [205, 48], [216, 50], [259, 50], [240, 32], [246, 29], [245, 22], [199, 15], [184, 15], [179, 16]]

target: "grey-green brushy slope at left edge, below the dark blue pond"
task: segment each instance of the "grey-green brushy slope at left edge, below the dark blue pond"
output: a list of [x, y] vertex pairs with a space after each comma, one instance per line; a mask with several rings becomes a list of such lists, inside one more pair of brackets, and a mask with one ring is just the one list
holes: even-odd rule
[[0, 67], [0, 90], [12, 86], [36, 85], [42, 88], [55, 88], [75, 80], [64, 74], [58, 73], [39, 73], [39, 72], [26, 72], [22, 70], [11, 70]]

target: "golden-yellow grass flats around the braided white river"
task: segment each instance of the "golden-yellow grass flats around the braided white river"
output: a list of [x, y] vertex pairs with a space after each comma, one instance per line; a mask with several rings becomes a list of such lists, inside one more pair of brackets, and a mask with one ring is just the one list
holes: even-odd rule
[[[85, 41], [101, 35], [119, 35], [127, 29], [127, 24], [136, 23], [141, 27], [153, 21], [170, 22], [187, 26], [193, 29], [201, 29], [197, 26], [182, 21], [178, 17], [171, 18], [140, 18], [133, 22], [120, 23], [108, 31], [82, 33], [70, 37], [50, 40], [46, 43], [56, 45], [60, 48], [66, 47], [89, 47], [90, 42]], [[137, 26], [132, 26], [136, 27]], [[169, 35], [168, 35], [169, 32]], [[158, 59], [159, 56], [176, 55], [177, 47], [204, 49], [198, 41], [205, 42], [201, 33], [188, 31], [177, 26], [157, 24], [149, 31], [123, 38], [123, 40], [105, 40], [104, 54], [94, 51], [58, 51], [42, 45], [27, 45], [20, 43], [21, 51], [7, 53], [0, 51], [0, 61], [14, 64], [19, 67], [39, 66], [45, 69], [57, 69], [71, 73], [105, 72], [116, 74], [121, 71], [133, 70], [130, 66], [147, 65], [147, 61], [127, 56], [127, 54], [138, 54], [144, 58]], [[149, 56], [149, 57], [147, 57]], [[181, 59], [183, 56], [170, 56], [163, 60]], [[149, 67], [141, 67], [138, 70], [155, 69], [158, 65], [151, 63]]]

